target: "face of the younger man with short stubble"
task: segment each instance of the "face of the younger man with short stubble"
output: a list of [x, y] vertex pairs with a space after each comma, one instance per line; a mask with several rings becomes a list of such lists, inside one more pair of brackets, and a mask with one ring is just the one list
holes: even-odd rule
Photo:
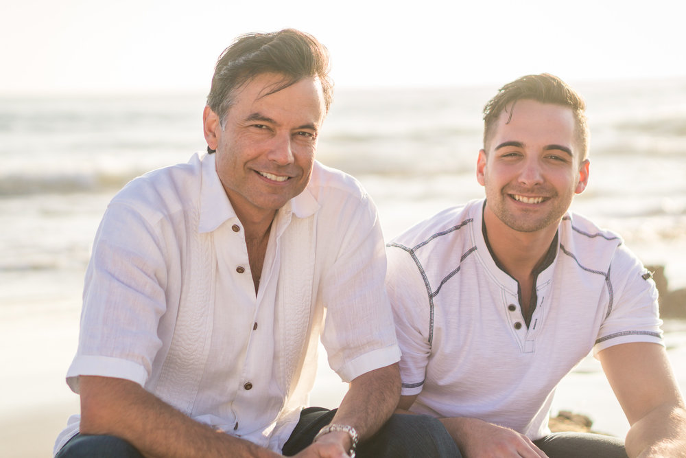
[[488, 152], [481, 150], [477, 163], [487, 211], [514, 231], [557, 227], [589, 178], [575, 128], [573, 113], [564, 106], [518, 100], [503, 111]]

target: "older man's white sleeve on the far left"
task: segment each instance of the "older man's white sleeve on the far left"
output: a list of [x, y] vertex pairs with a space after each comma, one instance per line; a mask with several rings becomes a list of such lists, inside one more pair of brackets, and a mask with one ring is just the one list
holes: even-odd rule
[[137, 211], [109, 205], [86, 270], [79, 346], [67, 372], [73, 391], [81, 375], [145, 384], [162, 345], [156, 331], [166, 309], [163, 252]]

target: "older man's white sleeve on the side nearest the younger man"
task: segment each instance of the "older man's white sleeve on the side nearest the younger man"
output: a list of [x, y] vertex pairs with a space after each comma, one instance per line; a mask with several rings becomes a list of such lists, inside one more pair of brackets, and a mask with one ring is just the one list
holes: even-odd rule
[[400, 359], [383, 286], [383, 235], [376, 207], [366, 194], [348, 196], [322, 223], [333, 235], [329, 239], [333, 261], [320, 286], [326, 308], [321, 339], [331, 369], [350, 382]]

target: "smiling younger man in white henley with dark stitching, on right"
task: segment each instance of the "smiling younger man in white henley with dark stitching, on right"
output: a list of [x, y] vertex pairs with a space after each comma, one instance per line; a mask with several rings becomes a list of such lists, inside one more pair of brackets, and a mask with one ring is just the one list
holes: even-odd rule
[[631, 424], [626, 453], [683, 456], [686, 413], [650, 273], [568, 211], [589, 179], [583, 100], [525, 76], [484, 109], [486, 199], [388, 244], [401, 410], [439, 417], [466, 457], [621, 457], [621, 439], [551, 434], [558, 382], [592, 350]]

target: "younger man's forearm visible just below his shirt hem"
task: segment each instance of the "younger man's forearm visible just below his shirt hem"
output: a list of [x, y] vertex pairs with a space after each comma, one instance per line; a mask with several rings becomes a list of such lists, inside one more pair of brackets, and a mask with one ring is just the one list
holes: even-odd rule
[[547, 457], [523, 434], [476, 418], [441, 418], [466, 458]]

